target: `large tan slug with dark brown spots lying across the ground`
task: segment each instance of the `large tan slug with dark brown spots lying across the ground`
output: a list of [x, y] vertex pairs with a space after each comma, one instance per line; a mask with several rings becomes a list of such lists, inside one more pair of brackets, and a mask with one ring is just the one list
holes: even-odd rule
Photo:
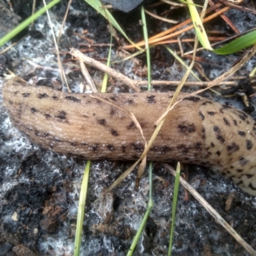
[[[91, 97], [100, 97], [102, 100]], [[33, 143], [85, 159], [136, 160], [164, 113], [173, 92], [74, 94], [17, 78], [3, 85], [4, 105], [13, 124]], [[180, 93], [179, 99], [185, 93]], [[104, 102], [110, 99], [120, 108]], [[229, 177], [256, 196], [256, 127], [243, 111], [199, 96], [182, 100], [166, 116], [147, 154], [151, 161], [193, 163]]]

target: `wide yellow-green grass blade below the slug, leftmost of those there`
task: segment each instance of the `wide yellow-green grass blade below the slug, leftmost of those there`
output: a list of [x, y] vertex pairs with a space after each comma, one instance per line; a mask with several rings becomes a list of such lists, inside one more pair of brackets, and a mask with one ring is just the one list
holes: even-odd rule
[[86, 193], [88, 188], [89, 172], [90, 172], [90, 161], [87, 161], [86, 167], [84, 170], [84, 176], [79, 196], [79, 205], [77, 211], [77, 222], [76, 222], [76, 237], [75, 237], [75, 246], [74, 246], [74, 256], [79, 256], [80, 247], [81, 247], [81, 236], [83, 230], [83, 221], [84, 221], [84, 208], [86, 202]]

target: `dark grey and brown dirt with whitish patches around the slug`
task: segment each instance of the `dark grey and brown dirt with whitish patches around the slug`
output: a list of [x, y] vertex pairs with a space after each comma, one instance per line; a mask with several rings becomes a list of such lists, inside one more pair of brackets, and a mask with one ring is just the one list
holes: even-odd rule
[[[22, 1], [20, 1], [22, 2]], [[252, 6], [251, 1], [246, 1]], [[54, 31], [58, 29], [65, 13], [67, 1], [61, 1], [51, 9]], [[166, 6], [159, 6], [157, 13], [161, 15]], [[115, 17], [127, 35], [138, 42], [141, 40], [140, 10], [131, 13], [115, 12]], [[184, 8], [171, 12], [171, 19], [185, 20], [188, 12]], [[255, 28], [255, 16], [232, 10], [227, 13], [237, 28], [244, 31]], [[182, 17], [182, 18], [180, 18]], [[70, 47], [86, 52], [96, 60], [106, 62], [108, 47], [82, 45], [84, 42], [74, 33], [82, 33], [88, 29], [88, 38], [95, 44], [109, 44], [108, 22], [82, 0], [74, 0], [68, 14], [65, 32], [60, 41], [61, 58], [72, 90], [77, 92], [78, 84], [83, 81], [79, 63], [71, 60]], [[148, 18], [150, 35], [170, 28], [170, 24]], [[220, 30], [234, 35], [223, 21], [207, 24], [209, 30]], [[35, 22], [33, 31], [1, 56], [0, 84], [6, 68], [26, 80], [35, 83], [60, 85], [58, 63], [51, 29], [47, 17], [43, 15]], [[39, 37], [36, 35], [40, 35]], [[122, 38], [121, 35], [119, 35]], [[193, 32], [186, 34], [193, 37]], [[122, 40], [125, 42], [125, 40]], [[113, 60], [126, 57], [118, 50], [114, 40]], [[184, 51], [191, 50], [190, 44], [184, 44]], [[173, 46], [179, 51], [177, 45]], [[4, 49], [2, 47], [1, 49]], [[151, 49], [152, 79], [180, 80], [184, 70], [166, 49], [157, 46]], [[201, 63], [209, 79], [214, 79], [227, 71], [240, 54], [216, 56], [211, 52], [200, 52], [198, 56], [207, 58], [209, 63]], [[140, 70], [145, 65], [145, 54], [138, 57], [142, 62], [137, 66], [135, 61], [115, 63], [113, 68], [135, 79], [136, 74], [145, 74]], [[189, 63], [189, 60], [186, 60]], [[136, 61], [138, 63], [138, 61]], [[236, 76], [248, 75], [255, 67], [255, 58], [247, 63]], [[89, 68], [92, 78], [99, 86], [102, 72]], [[193, 79], [190, 80], [193, 81]], [[109, 91], [131, 91], [125, 84], [109, 79]], [[0, 86], [1, 88], [1, 86]], [[170, 90], [172, 86], [157, 86], [157, 90]], [[144, 88], [145, 89], [145, 88]], [[189, 92], [197, 88], [186, 88]], [[204, 96], [216, 101], [226, 102], [243, 109], [239, 97], [221, 98], [212, 92]], [[2, 100], [0, 95], [0, 100]], [[254, 101], [253, 101], [254, 100]], [[255, 104], [255, 99], [252, 99]], [[254, 112], [255, 113], [255, 112]], [[255, 114], [252, 115], [255, 115]], [[60, 156], [32, 145], [17, 131], [6, 114], [2, 101], [0, 104], [0, 255], [72, 255], [76, 232], [76, 214], [79, 200], [81, 179], [86, 161]], [[148, 202], [147, 170], [135, 188], [136, 172], [113, 190], [104, 200], [95, 202], [104, 189], [124, 172], [131, 163], [111, 161], [95, 161], [90, 171], [88, 198], [86, 200], [85, 220], [81, 255], [126, 255], [132, 243], [132, 237], [140, 225]], [[175, 166], [175, 165], [174, 165]], [[256, 199], [242, 193], [229, 180], [223, 179], [200, 166], [188, 166], [189, 183], [218, 211], [223, 218], [256, 250]], [[166, 255], [168, 251], [173, 177], [163, 169], [161, 163], [154, 164], [154, 208], [147, 221], [134, 255]], [[228, 195], [234, 193], [230, 209], [225, 210]], [[173, 255], [248, 255], [227, 232], [216, 224], [210, 214], [193, 196], [184, 200], [184, 188], [180, 186], [179, 202], [175, 221]]]

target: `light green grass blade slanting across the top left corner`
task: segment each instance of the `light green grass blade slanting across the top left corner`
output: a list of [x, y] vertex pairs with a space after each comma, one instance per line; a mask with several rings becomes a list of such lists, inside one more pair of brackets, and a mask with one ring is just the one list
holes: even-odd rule
[[10, 31], [10, 33], [8, 33], [7, 35], [5, 35], [3, 38], [0, 39], [0, 47], [3, 44], [5, 44], [6, 42], [8, 42], [9, 40], [11, 40], [14, 36], [19, 34], [20, 31], [22, 31], [24, 28], [28, 27], [28, 25], [31, 24], [31, 22], [33, 22], [35, 19], [40, 17], [46, 10], [49, 10], [50, 8], [52, 8], [52, 6], [59, 3], [60, 1], [61, 0], [51, 1], [51, 3], [47, 4], [47, 6], [41, 8], [35, 14], [33, 14], [31, 17], [29, 17], [28, 19], [21, 22], [15, 29], [13, 29], [12, 31]]

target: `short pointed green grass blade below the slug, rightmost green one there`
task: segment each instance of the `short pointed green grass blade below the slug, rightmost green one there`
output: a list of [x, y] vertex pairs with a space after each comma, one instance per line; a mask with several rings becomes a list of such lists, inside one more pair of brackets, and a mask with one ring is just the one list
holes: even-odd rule
[[176, 175], [175, 175], [173, 203], [172, 203], [172, 228], [170, 232], [170, 244], [169, 244], [168, 256], [172, 255], [173, 232], [174, 232], [176, 206], [177, 206], [179, 184], [180, 184], [179, 179], [180, 179], [180, 163], [177, 164]]

